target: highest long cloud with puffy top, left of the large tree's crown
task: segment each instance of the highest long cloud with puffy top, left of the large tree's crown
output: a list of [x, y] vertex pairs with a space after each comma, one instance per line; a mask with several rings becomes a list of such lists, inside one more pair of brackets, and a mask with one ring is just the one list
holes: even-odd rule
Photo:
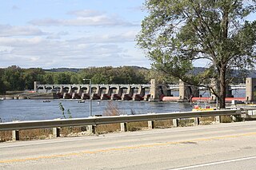
[[123, 21], [118, 16], [108, 16], [95, 10], [76, 10], [68, 14], [74, 15], [73, 19], [35, 19], [29, 23], [34, 26], [137, 26], [134, 23]]

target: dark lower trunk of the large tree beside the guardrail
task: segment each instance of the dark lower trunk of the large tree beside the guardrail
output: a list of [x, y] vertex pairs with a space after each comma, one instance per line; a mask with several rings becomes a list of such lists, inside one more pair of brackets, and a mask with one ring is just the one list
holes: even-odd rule
[[220, 70], [220, 93], [219, 93], [219, 107], [220, 109], [225, 109], [226, 103], [226, 65], [222, 65], [222, 69]]

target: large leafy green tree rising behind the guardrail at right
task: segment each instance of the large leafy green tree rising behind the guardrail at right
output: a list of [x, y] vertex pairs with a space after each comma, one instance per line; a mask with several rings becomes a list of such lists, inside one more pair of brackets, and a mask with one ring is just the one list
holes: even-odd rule
[[[146, 0], [149, 15], [142, 21], [138, 45], [153, 67], [191, 85], [206, 85], [225, 108], [232, 69], [251, 69], [256, 61], [256, 1]], [[205, 71], [193, 75], [194, 63]], [[219, 88], [210, 85], [213, 78]]]

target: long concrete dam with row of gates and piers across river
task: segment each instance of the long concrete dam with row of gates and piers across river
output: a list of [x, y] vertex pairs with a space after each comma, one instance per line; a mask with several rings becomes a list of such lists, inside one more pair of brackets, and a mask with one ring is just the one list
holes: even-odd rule
[[[246, 89], [245, 97], [232, 97], [232, 90]], [[91, 91], [90, 91], [91, 90]], [[50, 98], [91, 99], [91, 100], [122, 100], [122, 101], [196, 101], [207, 100], [215, 102], [216, 97], [200, 97], [202, 87], [187, 85], [179, 81], [178, 85], [160, 85], [152, 79], [150, 84], [40, 84], [34, 81], [34, 96], [40, 98], [42, 93], [52, 93]], [[174, 97], [172, 92], [178, 92]], [[32, 97], [33, 98], [33, 97]], [[42, 95], [42, 98], [43, 97]], [[256, 78], [247, 77], [246, 84], [228, 85], [226, 101], [256, 101]]]

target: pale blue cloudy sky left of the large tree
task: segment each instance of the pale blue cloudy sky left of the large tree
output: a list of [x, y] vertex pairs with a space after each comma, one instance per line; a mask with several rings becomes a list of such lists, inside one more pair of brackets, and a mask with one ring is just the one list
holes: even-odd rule
[[0, 68], [150, 68], [135, 36], [144, 0], [2, 0]]

